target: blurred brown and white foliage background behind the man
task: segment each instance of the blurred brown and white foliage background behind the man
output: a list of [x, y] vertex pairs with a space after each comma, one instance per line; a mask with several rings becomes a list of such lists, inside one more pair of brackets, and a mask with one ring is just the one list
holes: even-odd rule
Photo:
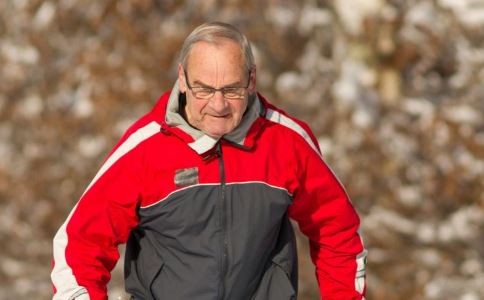
[[[307, 121], [361, 215], [368, 299], [484, 299], [484, 1], [0, 1], [0, 299], [49, 299], [52, 238], [205, 21]], [[299, 237], [300, 299], [318, 299]], [[109, 288], [123, 294], [122, 262]]]

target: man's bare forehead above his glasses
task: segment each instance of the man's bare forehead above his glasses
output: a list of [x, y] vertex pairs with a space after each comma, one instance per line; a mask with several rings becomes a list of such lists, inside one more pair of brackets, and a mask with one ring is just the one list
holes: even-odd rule
[[237, 72], [244, 73], [244, 56], [240, 45], [229, 39], [216, 42], [200, 41], [193, 45], [187, 59], [190, 72]]

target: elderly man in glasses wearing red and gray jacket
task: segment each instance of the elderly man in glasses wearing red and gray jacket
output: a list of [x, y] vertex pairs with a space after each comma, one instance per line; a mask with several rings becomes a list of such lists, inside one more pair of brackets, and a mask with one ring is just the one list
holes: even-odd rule
[[256, 92], [247, 38], [203, 24], [57, 232], [54, 299], [106, 299], [121, 243], [132, 299], [295, 299], [290, 219], [321, 297], [362, 299], [359, 218], [316, 139]]

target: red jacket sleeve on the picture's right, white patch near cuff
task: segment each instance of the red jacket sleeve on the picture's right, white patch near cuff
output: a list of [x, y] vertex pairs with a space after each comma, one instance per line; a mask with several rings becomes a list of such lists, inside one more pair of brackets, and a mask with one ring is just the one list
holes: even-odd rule
[[289, 215], [308, 236], [323, 299], [364, 299], [366, 250], [359, 217], [312, 133], [294, 142], [299, 186]]

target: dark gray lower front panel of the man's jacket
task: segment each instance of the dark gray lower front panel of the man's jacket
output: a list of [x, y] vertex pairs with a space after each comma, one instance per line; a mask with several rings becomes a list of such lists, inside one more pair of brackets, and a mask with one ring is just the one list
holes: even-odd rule
[[135, 299], [294, 299], [290, 195], [245, 183], [220, 196], [221, 185], [196, 185], [140, 209], [125, 256]]

